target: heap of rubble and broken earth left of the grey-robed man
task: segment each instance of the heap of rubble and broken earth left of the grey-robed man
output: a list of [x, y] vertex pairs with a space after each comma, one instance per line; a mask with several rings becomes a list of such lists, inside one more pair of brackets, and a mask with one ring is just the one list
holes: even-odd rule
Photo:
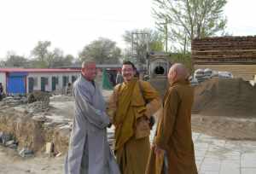
[[[51, 155], [65, 154], [73, 125], [73, 97], [49, 97], [42, 94], [33, 97], [37, 100], [32, 101], [30, 97], [29, 102], [20, 106], [6, 107], [2, 104], [0, 144], [17, 149], [22, 157], [45, 153], [45, 149], [49, 148], [47, 144], [52, 144]], [[113, 130], [108, 129], [108, 142], [111, 146], [113, 135]]]

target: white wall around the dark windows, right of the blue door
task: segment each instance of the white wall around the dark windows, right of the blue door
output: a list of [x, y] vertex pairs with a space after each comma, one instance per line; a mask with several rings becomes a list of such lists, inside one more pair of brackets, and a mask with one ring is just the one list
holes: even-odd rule
[[72, 82], [72, 76], [79, 77], [78, 73], [28, 73], [26, 77], [26, 91], [29, 89], [29, 78], [38, 78], [37, 85], [34, 86], [33, 90], [41, 90], [41, 78], [48, 78], [48, 85], [45, 86], [46, 91], [52, 91], [52, 77], [58, 77], [58, 84], [56, 85], [56, 90], [63, 89], [63, 77], [68, 76], [68, 82]]

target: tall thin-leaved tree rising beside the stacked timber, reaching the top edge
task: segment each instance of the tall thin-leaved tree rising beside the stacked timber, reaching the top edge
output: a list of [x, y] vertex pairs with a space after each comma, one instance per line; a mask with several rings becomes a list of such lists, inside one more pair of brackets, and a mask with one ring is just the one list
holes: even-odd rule
[[227, 19], [224, 16], [226, 0], [154, 0], [153, 14], [160, 31], [168, 39], [190, 46], [193, 38], [224, 35]]

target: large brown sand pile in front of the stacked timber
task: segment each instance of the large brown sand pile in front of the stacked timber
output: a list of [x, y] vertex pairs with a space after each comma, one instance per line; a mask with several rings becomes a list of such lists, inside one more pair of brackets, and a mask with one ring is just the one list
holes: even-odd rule
[[212, 78], [195, 87], [193, 113], [256, 117], [256, 86], [241, 78]]

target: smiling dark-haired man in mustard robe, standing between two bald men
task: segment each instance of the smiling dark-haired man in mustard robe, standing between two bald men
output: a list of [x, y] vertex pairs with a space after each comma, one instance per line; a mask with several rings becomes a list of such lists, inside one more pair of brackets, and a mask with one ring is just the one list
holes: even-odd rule
[[122, 66], [124, 82], [114, 87], [108, 115], [115, 126], [114, 153], [122, 174], [145, 173], [150, 152], [148, 120], [160, 108], [160, 95], [134, 75], [131, 61]]

